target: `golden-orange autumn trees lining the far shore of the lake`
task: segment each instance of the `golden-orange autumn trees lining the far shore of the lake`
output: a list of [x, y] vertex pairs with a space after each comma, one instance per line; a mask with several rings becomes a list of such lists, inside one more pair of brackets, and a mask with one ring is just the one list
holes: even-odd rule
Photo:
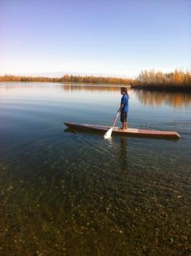
[[189, 88], [191, 90], [191, 71], [183, 72], [175, 69], [174, 72], [144, 70], [133, 79], [110, 76], [70, 76], [60, 78], [34, 76], [0, 76], [0, 82], [61, 82], [61, 83], [95, 83], [131, 85], [134, 88]]

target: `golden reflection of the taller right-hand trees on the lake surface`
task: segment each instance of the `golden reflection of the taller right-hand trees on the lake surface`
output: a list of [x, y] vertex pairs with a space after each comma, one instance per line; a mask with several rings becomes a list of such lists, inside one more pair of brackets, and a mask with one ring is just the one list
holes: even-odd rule
[[161, 91], [134, 91], [142, 105], [160, 106], [163, 103], [174, 107], [190, 106], [191, 94]]

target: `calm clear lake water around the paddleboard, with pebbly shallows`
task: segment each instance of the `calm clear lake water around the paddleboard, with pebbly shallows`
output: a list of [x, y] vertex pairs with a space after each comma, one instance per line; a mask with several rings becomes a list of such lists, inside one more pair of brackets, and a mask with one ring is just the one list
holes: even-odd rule
[[79, 133], [119, 87], [0, 84], [1, 255], [191, 254], [191, 95], [129, 91], [129, 125], [178, 140]]

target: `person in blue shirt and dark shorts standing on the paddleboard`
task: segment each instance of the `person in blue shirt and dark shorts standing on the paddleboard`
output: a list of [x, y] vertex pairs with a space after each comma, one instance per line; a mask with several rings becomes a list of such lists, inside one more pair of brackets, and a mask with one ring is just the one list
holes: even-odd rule
[[127, 129], [127, 113], [129, 109], [129, 95], [127, 93], [127, 88], [126, 87], [121, 87], [121, 103], [118, 109], [118, 112], [120, 113], [120, 119], [122, 122], [122, 128], [119, 128], [121, 130], [126, 130]]

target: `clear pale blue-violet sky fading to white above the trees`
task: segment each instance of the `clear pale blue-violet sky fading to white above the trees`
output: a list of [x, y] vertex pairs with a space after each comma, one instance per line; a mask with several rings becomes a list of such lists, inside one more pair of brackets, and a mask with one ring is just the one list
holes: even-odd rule
[[0, 0], [0, 75], [191, 69], [190, 0]]

